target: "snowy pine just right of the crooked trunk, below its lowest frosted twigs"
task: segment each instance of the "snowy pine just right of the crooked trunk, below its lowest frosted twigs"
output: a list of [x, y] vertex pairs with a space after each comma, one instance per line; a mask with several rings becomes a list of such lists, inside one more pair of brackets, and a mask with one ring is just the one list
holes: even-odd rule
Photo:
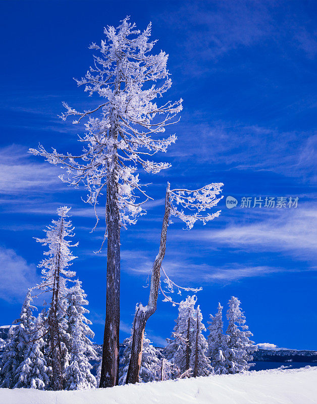
[[165, 348], [166, 358], [175, 364], [181, 373], [191, 367], [191, 354], [195, 337], [196, 310], [194, 309], [196, 296], [187, 296], [178, 308], [176, 326], [171, 339], [167, 338], [168, 345]]

